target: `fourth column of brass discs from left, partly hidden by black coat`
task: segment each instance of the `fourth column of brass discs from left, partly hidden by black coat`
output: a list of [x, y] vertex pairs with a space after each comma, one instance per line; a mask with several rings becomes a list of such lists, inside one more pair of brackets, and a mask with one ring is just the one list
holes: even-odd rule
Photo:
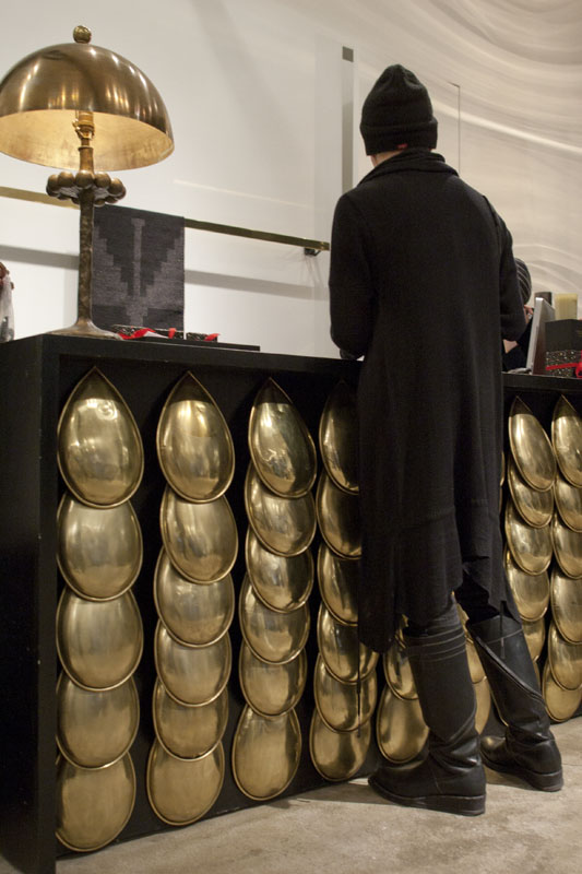
[[321, 605], [313, 673], [311, 760], [326, 780], [347, 780], [364, 764], [377, 702], [377, 653], [357, 634], [361, 554], [355, 399], [345, 382], [328, 398], [319, 425], [323, 460], [317, 492]]

